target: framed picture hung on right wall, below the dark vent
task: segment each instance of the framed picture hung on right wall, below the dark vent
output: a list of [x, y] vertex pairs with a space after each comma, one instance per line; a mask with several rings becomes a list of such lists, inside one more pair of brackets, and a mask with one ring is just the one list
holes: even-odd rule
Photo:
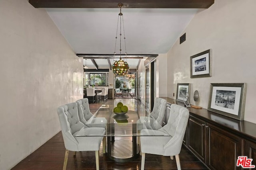
[[190, 57], [190, 78], [212, 76], [211, 49]]

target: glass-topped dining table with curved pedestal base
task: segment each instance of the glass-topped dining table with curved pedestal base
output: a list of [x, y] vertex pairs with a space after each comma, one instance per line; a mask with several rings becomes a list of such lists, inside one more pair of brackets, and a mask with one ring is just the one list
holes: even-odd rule
[[[103, 152], [112, 160], [120, 163], [134, 160], [140, 154], [141, 136], [170, 136], [168, 133], [159, 134], [152, 131], [162, 128], [153, 117], [146, 116], [146, 114], [141, 116], [137, 109], [128, 110], [123, 115], [115, 114], [114, 107], [112, 104], [102, 105], [86, 125], [87, 127], [106, 128], [106, 133], [103, 135], [103, 140], [106, 140], [103, 145], [106, 146], [103, 146]], [[98, 121], [94, 121], [94, 119], [98, 119]], [[85, 129], [86, 127], [82, 128], [76, 137], [96, 136], [95, 134], [84, 135]], [[142, 134], [140, 133], [142, 129], [146, 129], [146, 131], [148, 129], [149, 132]]]

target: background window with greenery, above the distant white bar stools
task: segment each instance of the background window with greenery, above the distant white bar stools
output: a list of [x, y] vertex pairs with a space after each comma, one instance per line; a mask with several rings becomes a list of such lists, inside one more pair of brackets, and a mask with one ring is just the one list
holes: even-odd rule
[[90, 72], [90, 86], [108, 86], [107, 72]]

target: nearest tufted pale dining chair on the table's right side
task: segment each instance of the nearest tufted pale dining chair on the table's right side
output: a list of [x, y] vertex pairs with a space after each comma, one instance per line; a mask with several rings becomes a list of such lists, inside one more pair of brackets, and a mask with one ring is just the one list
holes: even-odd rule
[[[188, 123], [188, 117], [188, 109], [172, 104], [168, 123], [164, 127], [158, 130], [141, 130], [141, 170], [144, 170], [145, 153], [170, 156], [171, 159], [175, 156], [177, 168], [181, 170], [179, 154]], [[170, 136], [143, 136], [150, 134], [163, 135], [166, 133]]]

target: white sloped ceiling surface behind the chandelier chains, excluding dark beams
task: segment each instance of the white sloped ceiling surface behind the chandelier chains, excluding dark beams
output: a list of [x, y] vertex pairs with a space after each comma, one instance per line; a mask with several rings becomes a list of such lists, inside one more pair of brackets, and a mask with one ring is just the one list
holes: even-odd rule
[[[75, 53], [114, 53], [119, 8], [46, 10]], [[167, 53], [197, 11], [198, 9], [122, 8], [128, 55]], [[118, 45], [120, 44], [117, 47]], [[124, 51], [123, 45], [124, 43]], [[118, 50], [119, 47], [117, 53]], [[106, 59], [95, 61], [99, 68], [109, 67]], [[110, 61], [113, 63], [112, 59]], [[90, 59], [87, 59], [86, 64], [89, 68], [93, 66]], [[138, 59], [128, 59], [128, 64], [136, 68]]]

